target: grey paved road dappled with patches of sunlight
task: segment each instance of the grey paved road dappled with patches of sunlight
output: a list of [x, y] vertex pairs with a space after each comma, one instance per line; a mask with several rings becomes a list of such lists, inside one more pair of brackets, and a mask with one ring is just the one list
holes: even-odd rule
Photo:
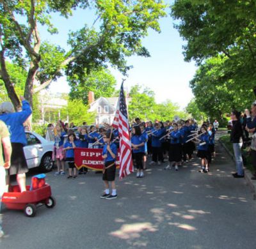
[[153, 166], [144, 179], [118, 180], [118, 199], [102, 200], [100, 174], [47, 174], [57, 205], [35, 218], [5, 210], [0, 248], [255, 248], [256, 202], [218, 146], [210, 174], [194, 159], [175, 172]]

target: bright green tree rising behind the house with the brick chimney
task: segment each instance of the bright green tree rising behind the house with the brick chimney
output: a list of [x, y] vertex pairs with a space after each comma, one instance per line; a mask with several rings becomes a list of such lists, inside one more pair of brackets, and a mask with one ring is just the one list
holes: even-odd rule
[[100, 68], [92, 71], [89, 75], [84, 73], [83, 77], [72, 75], [68, 77], [70, 85], [69, 96], [72, 100], [83, 100], [85, 105], [88, 104], [88, 93], [93, 91], [95, 99], [100, 96], [111, 97], [115, 91], [116, 79], [111, 75], [109, 70]]

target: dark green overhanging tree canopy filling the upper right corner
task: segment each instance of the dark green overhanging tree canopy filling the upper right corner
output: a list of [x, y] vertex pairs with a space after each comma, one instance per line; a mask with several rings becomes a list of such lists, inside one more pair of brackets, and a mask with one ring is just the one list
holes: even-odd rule
[[[222, 56], [225, 76], [237, 91], [256, 86], [256, 2], [254, 0], [176, 0], [172, 17], [186, 41], [184, 57], [202, 64]], [[223, 73], [223, 70], [221, 70]]]

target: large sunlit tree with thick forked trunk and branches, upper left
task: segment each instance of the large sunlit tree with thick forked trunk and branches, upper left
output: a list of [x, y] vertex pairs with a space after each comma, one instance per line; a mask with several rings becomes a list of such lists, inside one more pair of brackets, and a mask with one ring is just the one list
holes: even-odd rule
[[[99, 26], [71, 31], [70, 50], [44, 41], [39, 27], [47, 26], [49, 34], [58, 30], [51, 22], [52, 13], [68, 18], [76, 8], [92, 8]], [[148, 29], [159, 32], [158, 20], [166, 15], [166, 5], [158, 0], [3, 0], [0, 2], [0, 76], [15, 107], [20, 102], [6, 68], [6, 61], [28, 71], [24, 88], [25, 98], [49, 86], [63, 73], [81, 77], [102, 66], [116, 66], [125, 73], [125, 57], [149, 56], [141, 40]], [[25, 20], [25, 21], [24, 21]], [[35, 87], [35, 82], [40, 86]]]

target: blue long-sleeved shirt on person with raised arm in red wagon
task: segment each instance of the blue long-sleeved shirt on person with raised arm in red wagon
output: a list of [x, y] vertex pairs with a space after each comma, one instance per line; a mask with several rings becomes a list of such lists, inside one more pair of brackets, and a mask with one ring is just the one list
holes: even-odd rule
[[0, 115], [0, 120], [8, 127], [11, 142], [18, 142], [24, 146], [27, 144], [23, 123], [28, 119], [31, 113], [32, 110], [28, 101], [23, 100], [21, 112], [4, 113]]

